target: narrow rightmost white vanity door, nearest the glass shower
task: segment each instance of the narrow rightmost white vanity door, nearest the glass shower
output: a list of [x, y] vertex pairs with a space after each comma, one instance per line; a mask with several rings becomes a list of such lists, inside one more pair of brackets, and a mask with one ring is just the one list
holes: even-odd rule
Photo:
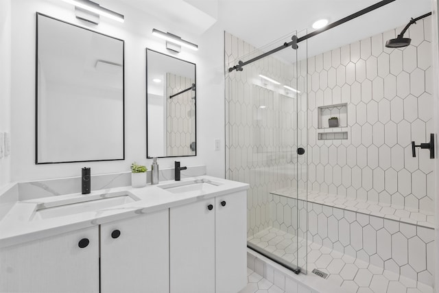
[[216, 293], [239, 292], [247, 283], [247, 192], [215, 200]]

